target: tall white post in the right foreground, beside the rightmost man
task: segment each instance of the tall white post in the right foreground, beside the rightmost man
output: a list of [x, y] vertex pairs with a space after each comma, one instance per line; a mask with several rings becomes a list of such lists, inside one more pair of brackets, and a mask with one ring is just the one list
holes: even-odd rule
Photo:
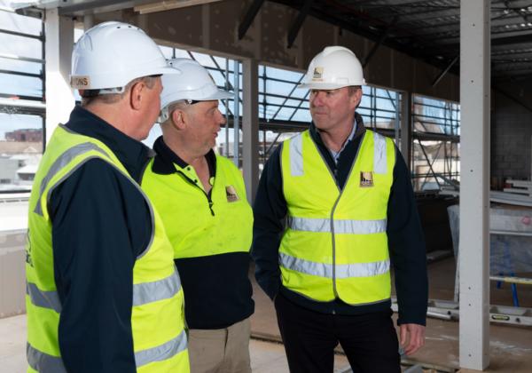
[[489, 0], [460, 2], [460, 367], [489, 366]]

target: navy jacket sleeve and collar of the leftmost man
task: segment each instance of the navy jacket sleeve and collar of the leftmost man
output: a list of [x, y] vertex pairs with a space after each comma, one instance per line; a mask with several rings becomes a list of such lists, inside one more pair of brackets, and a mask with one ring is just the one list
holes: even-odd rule
[[[66, 128], [106, 144], [133, 179], [142, 175], [151, 150], [141, 142], [82, 107]], [[66, 370], [136, 372], [133, 266], [153, 229], [144, 197], [109, 163], [91, 159], [53, 190], [49, 213]]]

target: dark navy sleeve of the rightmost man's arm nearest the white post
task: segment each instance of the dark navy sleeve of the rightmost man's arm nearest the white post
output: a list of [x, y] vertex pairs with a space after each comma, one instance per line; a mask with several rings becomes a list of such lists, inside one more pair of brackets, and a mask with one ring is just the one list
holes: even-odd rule
[[395, 271], [398, 324], [425, 325], [428, 301], [426, 249], [410, 173], [396, 150], [394, 182], [387, 205], [387, 238]]

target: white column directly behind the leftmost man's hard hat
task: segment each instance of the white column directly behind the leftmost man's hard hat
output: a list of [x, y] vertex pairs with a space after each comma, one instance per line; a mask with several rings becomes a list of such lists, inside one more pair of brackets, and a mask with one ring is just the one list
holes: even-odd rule
[[74, 107], [70, 88], [70, 64], [74, 45], [74, 21], [59, 16], [58, 9], [45, 14], [46, 142], [59, 123], [66, 123]]

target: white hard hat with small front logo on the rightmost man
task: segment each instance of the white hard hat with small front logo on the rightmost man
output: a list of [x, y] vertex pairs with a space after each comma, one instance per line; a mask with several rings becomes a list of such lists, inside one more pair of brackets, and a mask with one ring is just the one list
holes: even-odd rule
[[350, 85], [365, 85], [360, 61], [348, 48], [328, 46], [310, 61], [298, 88], [336, 90]]

